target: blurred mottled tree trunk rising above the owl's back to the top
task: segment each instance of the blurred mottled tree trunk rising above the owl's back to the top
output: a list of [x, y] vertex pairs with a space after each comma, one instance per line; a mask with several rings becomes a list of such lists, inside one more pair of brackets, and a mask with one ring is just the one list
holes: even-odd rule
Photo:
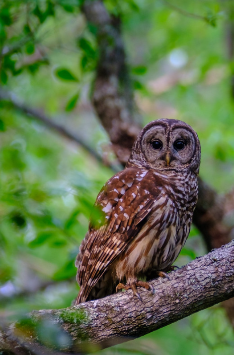
[[114, 152], [125, 165], [140, 126], [133, 114], [133, 93], [120, 19], [111, 17], [101, 0], [86, 0], [83, 11], [98, 32], [99, 64], [93, 93], [94, 107], [110, 136]]

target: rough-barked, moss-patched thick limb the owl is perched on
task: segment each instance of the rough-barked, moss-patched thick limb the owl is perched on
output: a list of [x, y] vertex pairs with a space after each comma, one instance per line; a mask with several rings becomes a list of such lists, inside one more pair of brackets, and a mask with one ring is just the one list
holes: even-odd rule
[[[16, 323], [7, 332], [0, 332], [0, 350], [8, 349], [7, 340], [18, 337], [24, 348], [33, 352], [54, 349], [77, 353], [90, 352], [88, 344], [105, 348], [147, 334], [195, 312], [224, 301], [234, 295], [234, 241], [220, 249], [197, 258], [169, 274], [170, 280], [152, 280], [154, 295], [140, 288], [143, 302], [133, 297], [132, 291], [121, 292], [101, 300], [60, 310], [34, 311], [29, 315], [31, 324]], [[30, 326], [27, 328], [27, 324]], [[39, 345], [43, 327], [54, 327], [63, 334], [63, 342], [49, 350], [45, 336]], [[33, 326], [32, 326], [33, 325]], [[58, 328], [59, 327], [59, 328]], [[47, 332], [47, 330], [45, 330]], [[40, 332], [39, 332], [40, 333]]]

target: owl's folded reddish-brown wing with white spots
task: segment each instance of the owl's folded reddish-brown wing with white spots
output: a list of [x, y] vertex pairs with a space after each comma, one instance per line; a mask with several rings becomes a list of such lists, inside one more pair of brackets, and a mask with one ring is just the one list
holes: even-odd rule
[[80, 248], [76, 266], [81, 290], [76, 304], [86, 300], [107, 267], [142, 228], [160, 195], [160, 184], [149, 184], [151, 174], [150, 170], [137, 167], [124, 169], [99, 193], [95, 206], [105, 213], [106, 222], [99, 228], [91, 222]]

